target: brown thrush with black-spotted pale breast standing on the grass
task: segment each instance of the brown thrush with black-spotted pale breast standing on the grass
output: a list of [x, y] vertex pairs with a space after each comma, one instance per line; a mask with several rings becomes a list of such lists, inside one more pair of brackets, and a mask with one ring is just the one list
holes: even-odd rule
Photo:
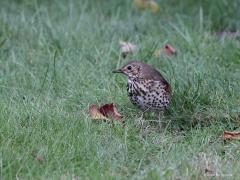
[[130, 61], [113, 73], [128, 77], [127, 92], [132, 104], [143, 113], [162, 114], [171, 100], [171, 86], [162, 74], [141, 61]]

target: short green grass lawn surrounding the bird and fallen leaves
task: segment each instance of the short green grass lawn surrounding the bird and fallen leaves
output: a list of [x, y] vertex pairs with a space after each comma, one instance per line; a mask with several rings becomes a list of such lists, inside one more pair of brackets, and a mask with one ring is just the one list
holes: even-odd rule
[[[226, 3], [160, 1], [151, 14], [130, 0], [1, 1], [0, 178], [238, 177], [240, 142], [219, 138], [240, 125], [240, 42], [215, 34], [240, 27], [238, 1]], [[139, 52], [122, 59], [119, 40]], [[153, 57], [165, 43], [177, 56]], [[151, 114], [148, 129], [136, 123], [126, 78], [111, 73], [131, 59], [172, 85], [165, 128]], [[125, 127], [91, 120], [89, 105], [108, 102]]]

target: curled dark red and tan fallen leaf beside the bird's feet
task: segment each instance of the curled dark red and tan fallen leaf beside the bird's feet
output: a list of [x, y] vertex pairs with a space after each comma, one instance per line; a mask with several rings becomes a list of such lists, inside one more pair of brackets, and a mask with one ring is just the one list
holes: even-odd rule
[[89, 113], [93, 119], [114, 119], [120, 122], [123, 121], [123, 117], [119, 114], [113, 103], [104, 104], [99, 109], [96, 105], [92, 105], [89, 107]]

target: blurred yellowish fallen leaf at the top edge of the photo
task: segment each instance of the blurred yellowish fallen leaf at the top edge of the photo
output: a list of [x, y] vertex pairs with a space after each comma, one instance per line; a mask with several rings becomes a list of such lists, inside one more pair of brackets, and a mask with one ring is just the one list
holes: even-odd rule
[[150, 10], [152, 13], [159, 11], [159, 5], [154, 0], [134, 0], [133, 5], [138, 10]]

